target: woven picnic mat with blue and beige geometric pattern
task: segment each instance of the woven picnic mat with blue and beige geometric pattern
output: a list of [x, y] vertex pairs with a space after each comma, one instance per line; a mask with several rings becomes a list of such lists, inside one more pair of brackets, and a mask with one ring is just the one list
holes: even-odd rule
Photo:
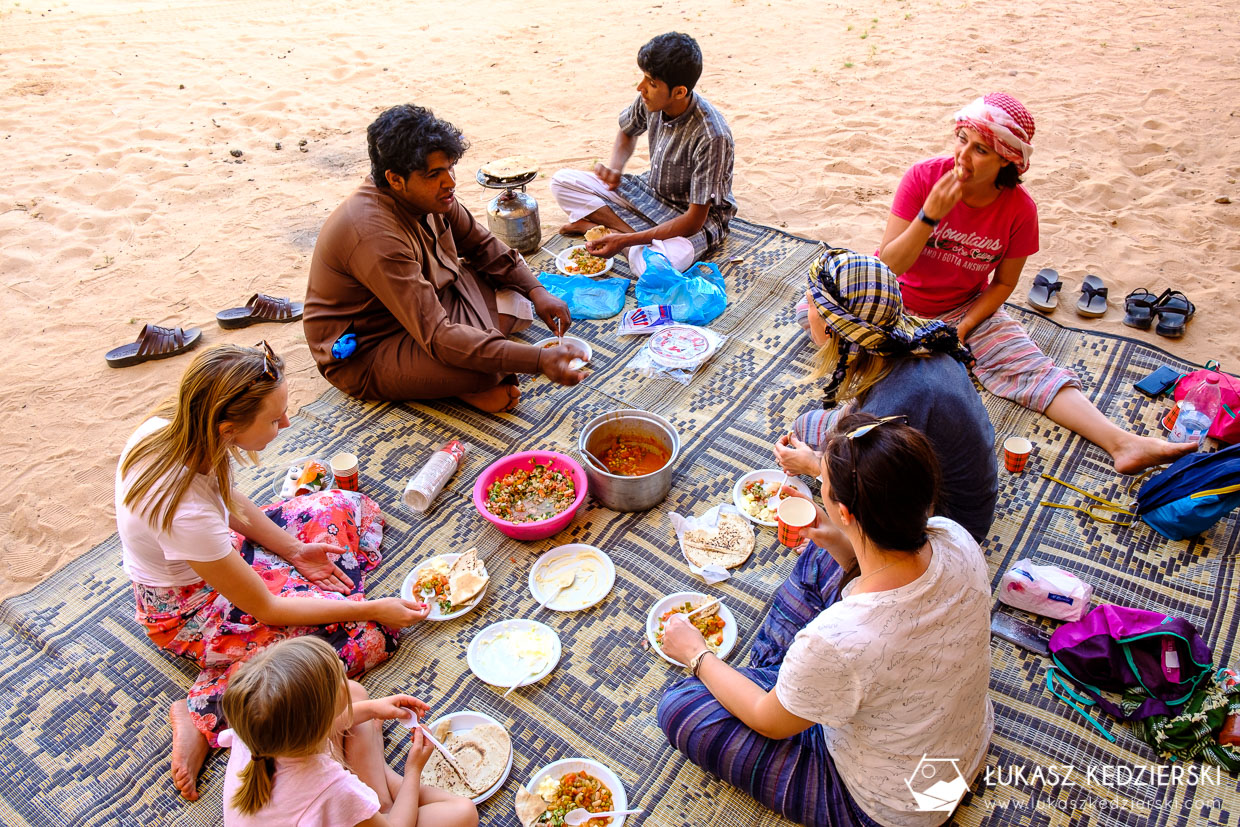
[[[243, 490], [267, 502], [273, 481], [293, 459], [356, 453], [362, 489], [387, 518], [384, 560], [367, 584], [372, 595], [398, 593], [409, 569], [432, 554], [480, 548], [492, 575], [480, 606], [453, 621], [410, 629], [399, 652], [363, 682], [376, 696], [410, 692], [436, 713], [481, 710], [510, 729], [512, 774], [481, 806], [482, 823], [516, 825], [517, 784], [568, 756], [596, 759], [620, 776], [630, 805], [646, 811], [634, 823], [785, 823], [667, 745], [653, 713], [662, 689], [681, 672], [642, 643], [647, 610], [658, 598], [703, 588], [672, 542], [668, 513], [701, 513], [729, 501], [734, 480], [770, 467], [775, 435], [817, 399], [816, 388], [800, 381], [812, 346], [795, 324], [791, 285], [800, 284], [818, 244], [743, 221], [733, 227], [717, 258], [730, 305], [713, 325], [728, 340], [689, 386], [627, 369], [641, 340], [616, 337], [615, 320], [577, 322], [573, 332], [594, 347], [594, 372], [583, 386], [526, 378], [522, 403], [510, 415], [454, 403], [370, 404], [329, 392], [294, 418], [264, 453], [263, 466], [238, 475]], [[552, 238], [531, 264], [551, 269], [551, 255], [568, 243]], [[618, 259], [616, 270], [626, 273], [624, 262]], [[1135, 393], [1132, 383], [1159, 365], [1187, 367], [1184, 362], [1137, 341], [1013, 312], [1049, 355], [1081, 376], [1107, 417], [1140, 433], [1159, 433], [1157, 418], [1166, 404]], [[528, 341], [543, 336], [537, 322], [522, 335]], [[999, 443], [1019, 434], [1037, 445], [1023, 475], [1001, 471], [998, 518], [985, 543], [993, 583], [1021, 558], [1061, 565], [1095, 584], [1100, 601], [1189, 619], [1214, 645], [1216, 662], [1234, 663], [1240, 622], [1235, 515], [1202, 538], [1168, 542], [1143, 526], [1105, 526], [1078, 512], [1039, 507], [1044, 498], [1080, 500], [1042, 480], [1042, 472], [1121, 500], [1126, 480], [1111, 471], [1100, 449], [1049, 420], [994, 398], [986, 404]], [[536, 543], [508, 539], [476, 515], [470, 492], [487, 464], [526, 449], [572, 454], [582, 425], [618, 407], [657, 412], [680, 430], [683, 446], [666, 502], [639, 515], [588, 502], [563, 533]], [[467, 440], [471, 450], [429, 516], [417, 517], [401, 503], [401, 491], [449, 439]], [[536, 614], [529, 567], [541, 552], [569, 542], [604, 548], [616, 565], [615, 588], [587, 611]], [[166, 710], [185, 696], [193, 670], [160, 653], [134, 622], [119, 560], [113, 536], [30, 594], [0, 605], [0, 823], [219, 823], [222, 751], [207, 761], [197, 803], [180, 801], [167, 780]], [[753, 558], [730, 580], [703, 589], [722, 595], [737, 615], [740, 641], [730, 662], [745, 662], [765, 608], [791, 565], [791, 553], [776, 543], [774, 531], [763, 528]], [[470, 673], [465, 647], [491, 622], [531, 616], [556, 629], [563, 658], [543, 682], [501, 699], [500, 691]], [[978, 779], [954, 823], [1240, 825], [1238, 782], [1225, 774], [1219, 784], [1197, 785], [1087, 781], [1092, 766], [1162, 764], [1122, 725], [1110, 724], [1118, 743], [1109, 744], [1054, 701], [1043, 688], [1042, 658], [1003, 641], [994, 641], [991, 652], [996, 729], [987, 761], [1009, 784], [987, 786]], [[397, 767], [405, 754], [401, 733], [388, 729], [388, 758]], [[1024, 780], [1011, 782], [1013, 767]], [[1030, 779], [1038, 767], [1042, 780]], [[1052, 769], [1074, 786], [1058, 782]]]

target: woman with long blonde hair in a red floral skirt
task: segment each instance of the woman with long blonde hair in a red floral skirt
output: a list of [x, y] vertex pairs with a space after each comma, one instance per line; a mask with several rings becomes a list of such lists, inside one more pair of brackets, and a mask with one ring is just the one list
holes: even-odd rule
[[365, 599], [362, 578], [378, 564], [383, 537], [368, 497], [322, 491], [264, 512], [233, 487], [232, 460], [257, 459], [289, 425], [288, 399], [284, 362], [267, 342], [211, 348], [129, 438], [117, 467], [117, 529], [138, 621], [160, 648], [201, 670], [187, 701], [170, 709], [172, 780], [191, 801], [224, 727], [219, 699], [246, 658], [316, 635], [357, 676], [429, 611]]

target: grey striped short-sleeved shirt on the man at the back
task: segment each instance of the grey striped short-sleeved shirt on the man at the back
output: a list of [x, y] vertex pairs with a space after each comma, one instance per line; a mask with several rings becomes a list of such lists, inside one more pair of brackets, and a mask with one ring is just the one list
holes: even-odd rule
[[647, 133], [650, 140], [650, 170], [624, 176], [620, 195], [656, 224], [687, 212], [689, 205], [709, 205], [703, 232], [714, 248], [737, 214], [732, 198], [735, 150], [728, 122], [706, 98], [691, 94], [688, 109], [676, 118], [651, 114], [641, 95], [620, 113], [625, 135]]

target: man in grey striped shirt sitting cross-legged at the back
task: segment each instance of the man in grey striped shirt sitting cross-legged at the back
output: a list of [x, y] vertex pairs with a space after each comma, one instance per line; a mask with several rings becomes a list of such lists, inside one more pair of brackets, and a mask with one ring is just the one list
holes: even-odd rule
[[[610, 162], [595, 164], [593, 172], [560, 170], [552, 176], [552, 195], [570, 219], [559, 232], [584, 233], [603, 224], [613, 233], [589, 242], [590, 253], [610, 257], [627, 249], [630, 267], [640, 275], [641, 250], [650, 245], [683, 270], [718, 249], [737, 213], [732, 130], [693, 91], [702, 76], [702, 50], [692, 37], [655, 37], [637, 52], [637, 67], [639, 97], [620, 114]], [[650, 140], [650, 170], [625, 175], [642, 133]]]

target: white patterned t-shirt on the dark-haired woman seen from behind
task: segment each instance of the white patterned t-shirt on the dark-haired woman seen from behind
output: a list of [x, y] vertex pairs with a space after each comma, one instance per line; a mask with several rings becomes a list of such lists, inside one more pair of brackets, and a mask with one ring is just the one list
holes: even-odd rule
[[[972, 781], [994, 729], [986, 558], [960, 524], [930, 526], [925, 573], [851, 596], [853, 580], [797, 632], [775, 683], [785, 709], [822, 724], [853, 800], [890, 827], [947, 821], [919, 811], [906, 782], [923, 792], [934, 784], [925, 777]], [[931, 766], [918, 777], [923, 759]]]

